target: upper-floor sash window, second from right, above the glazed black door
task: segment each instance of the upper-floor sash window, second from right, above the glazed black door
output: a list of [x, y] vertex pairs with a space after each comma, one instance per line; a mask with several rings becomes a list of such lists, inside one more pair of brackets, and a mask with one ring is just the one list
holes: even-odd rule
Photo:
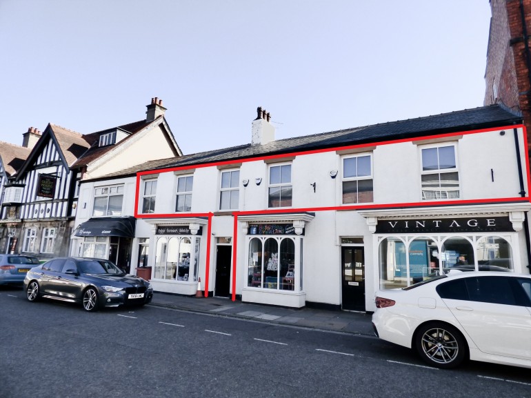
[[372, 156], [343, 158], [343, 204], [372, 201]]

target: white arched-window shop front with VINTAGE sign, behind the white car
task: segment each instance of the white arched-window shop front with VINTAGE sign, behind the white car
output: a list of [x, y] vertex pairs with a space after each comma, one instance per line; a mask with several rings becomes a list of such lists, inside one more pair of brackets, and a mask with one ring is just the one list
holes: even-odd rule
[[523, 230], [527, 210], [528, 205], [507, 205], [485, 206], [475, 214], [464, 208], [408, 215], [361, 212], [375, 237], [374, 289], [404, 288], [448, 270], [528, 273]]

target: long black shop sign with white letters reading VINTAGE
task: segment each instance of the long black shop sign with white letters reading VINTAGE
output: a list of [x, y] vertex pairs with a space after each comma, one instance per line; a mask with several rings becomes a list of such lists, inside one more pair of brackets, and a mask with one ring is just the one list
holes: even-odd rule
[[509, 217], [378, 220], [376, 233], [512, 232]]

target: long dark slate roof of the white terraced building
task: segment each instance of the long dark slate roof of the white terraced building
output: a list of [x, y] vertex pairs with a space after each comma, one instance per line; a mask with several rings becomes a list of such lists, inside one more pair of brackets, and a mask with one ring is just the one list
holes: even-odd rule
[[473, 109], [459, 110], [407, 119], [379, 123], [371, 126], [348, 128], [332, 132], [323, 132], [316, 135], [305, 135], [288, 139], [272, 141], [264, 145], [245, 144], [231, 148], [222, 148], [208, 152], [199, 152], [192, 155], [183, 155], [178, 158], [148, 161], [138, 166], [114, 172], [105, 177], [126, 177], [140, 171], [173, 168], [179, 166], [192, 166], [197, 164], [214, 163], [263, 157], [269, 155], [288, 154], [305, 150], [319, 150], [363, 143], [378, 143], [394, 139], [410, 139], [428, 135], [441, 135], [450, 132], [481, 130], [501, 126], [510, 126], [522, 123], [521, 115], [510, 112], [501, 104], [483, 106]]

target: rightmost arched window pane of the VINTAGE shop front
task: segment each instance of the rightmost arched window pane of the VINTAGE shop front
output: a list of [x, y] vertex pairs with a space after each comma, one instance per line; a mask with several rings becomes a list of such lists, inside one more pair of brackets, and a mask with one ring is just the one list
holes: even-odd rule
[[476, 258], [480, 271], [512, 270], [512, 250], [501, 237], [483, 237], [476, 244]]

